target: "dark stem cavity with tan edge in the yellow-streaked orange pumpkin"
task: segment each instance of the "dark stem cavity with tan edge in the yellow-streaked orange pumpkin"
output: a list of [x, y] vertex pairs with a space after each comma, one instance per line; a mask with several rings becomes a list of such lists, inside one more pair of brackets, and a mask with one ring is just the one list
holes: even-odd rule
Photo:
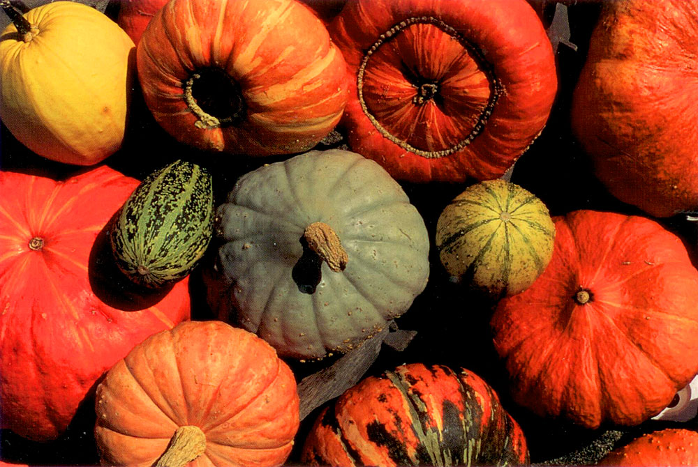
[[244, 118], [242, 90], [220, 68], [198, 70], [183, 82], [183, 86], [186, 105], [199, 118], [195, 123], [197, 128], [223, 128]]

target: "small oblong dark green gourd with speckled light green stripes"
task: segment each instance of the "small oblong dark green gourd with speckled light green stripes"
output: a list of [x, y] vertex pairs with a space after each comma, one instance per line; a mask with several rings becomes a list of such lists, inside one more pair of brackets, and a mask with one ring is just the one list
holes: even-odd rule
[[121, 207], [110, 232], [119, 269], [156, 289], [185, 277], [213, 236], [211, 175], [177, 160], [145, 178]]

